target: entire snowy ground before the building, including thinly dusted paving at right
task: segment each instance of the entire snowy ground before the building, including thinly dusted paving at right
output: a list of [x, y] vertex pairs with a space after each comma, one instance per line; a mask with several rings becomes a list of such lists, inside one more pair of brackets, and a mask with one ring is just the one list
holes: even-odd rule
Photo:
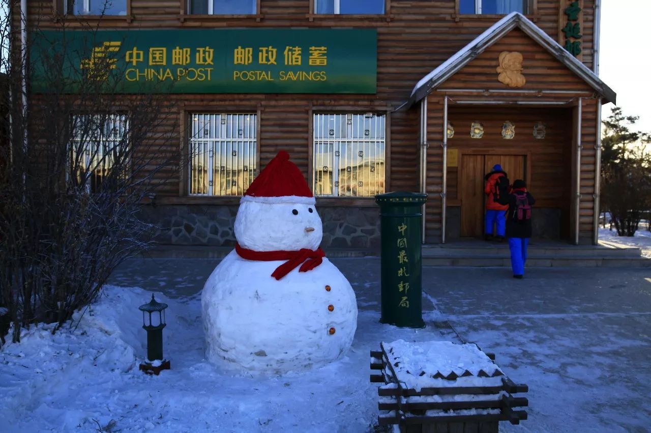
[[[508, 269], [425, 267], [428, 327], [409, 330], [378, 323], [380, 259], [334, 261], [357, 294], [352, 350], [322, 369], [272, 378], [233, 376], [204, 359], [199, 296], [217, 260], [126, 263], [76, 329], [23, 330], [20, 344], [0, 348], [0, 432], [367, 433], [378, 415], [369, 350], [398, 339], [456, 341], [434, 327], [445, 319], [529, 385], [529, 419], [501, 431], [650, 431], [648, 270], [540, 268], [514, 280]], [[151, 292], [135, 285], [169, 304], [172, 369], [158, 377], [137, 370], [146, 341], [137, 307]]]

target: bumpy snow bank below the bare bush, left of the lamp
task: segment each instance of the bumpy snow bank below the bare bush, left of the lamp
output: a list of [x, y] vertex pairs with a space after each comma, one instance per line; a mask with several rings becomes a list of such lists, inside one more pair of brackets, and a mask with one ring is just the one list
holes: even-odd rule
[[[89, 403], [102, 404], [102, 399], [92, 395], [93, 389], [110, 386], [116, 378], [137, 371], [138, 358], [145, 355], [141, 343], [145, 339], [138, 335], [143, 330], [137, 306], [146, 296], [140, 289], [112, 293], [110, 300], [104, 297], [75, 313], [74, 321], [54, 335], [55, 324], [22, 330], [21, 343], [8, 343], [0, 351], [0, 419], [42, 418], [45, 422], [38, 428], [28, 422], [17, 430], [68, 431], [97, 417], [81, 406], [57, 407], [65, 403], [57, 400], [85, 395]], [[135, 311], [119, 308], [128, 305], [135, 306]], [[115, 397], [104, 402], [107, 408], [111, 400]], [[104, 425], [109, 420], [102, 419]]]

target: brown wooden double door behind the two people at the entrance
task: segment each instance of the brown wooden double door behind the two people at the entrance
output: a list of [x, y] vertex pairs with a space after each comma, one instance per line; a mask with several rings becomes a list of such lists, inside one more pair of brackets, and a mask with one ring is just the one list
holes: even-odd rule
[[512, 184], [526, 179], [524, 155], [462, 155], [461, 159], [461, 236], [484, 235], [484, 176], [500, 164]]

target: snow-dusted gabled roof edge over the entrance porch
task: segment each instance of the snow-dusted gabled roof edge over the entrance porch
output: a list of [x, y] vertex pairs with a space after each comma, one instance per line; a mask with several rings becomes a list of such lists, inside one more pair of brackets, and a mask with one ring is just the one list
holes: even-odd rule
[[616, 94], [609, 86], [605, 85], [599, 77], [592, 72], [585, 64], [580, 62], [576, 57], [568, 53], [561, 44], [553, 40], [547, 33], [542, 31], [538, 26], [531, 22], [527, 17], [519, 12], [511, 12], [497, 23], [493, 24], [484, 33], [480, 34], [472, 42], [467, 44], [454, 54], [450, 59], [445, 60], [435, 70], [425, 75], [421, 81], [413, 88], [409, 101], [403, 105], [405, 108], [411, 107], [413, 103], [420, 101], [430, 94], [432, 90], [449, 79], [454, 73], [458, 72], [471, 60], [475, 59], [484, 50], [492, 46], [506, 33], [515, 27], [519, 27], [525, 34], [529, 35], [540, 46], [544, 47], [562, 64], [572, 70], [590, 85], [606, 102], [615, 103]]

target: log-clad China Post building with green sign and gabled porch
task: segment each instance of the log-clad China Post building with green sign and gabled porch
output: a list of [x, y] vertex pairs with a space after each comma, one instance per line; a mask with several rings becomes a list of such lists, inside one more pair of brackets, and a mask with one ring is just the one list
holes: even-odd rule
[[232, 245], [240, 196], [284, 149], [317, 197], [324, 248], [376, 248], [374, 195], [395, 190], [428, 194], [424, 243], [482, 237], [496, 163], [536, 197], [534, 237], [596, 243], [601, 107], [615, 102], [598, 78], [599, 6], [111, 0], [100, 17], [102, 0], [27, 0], [27, 16], [135, 35], [126, 94], [175, 81], [189, 161], [147, 209], [159, 241]]

